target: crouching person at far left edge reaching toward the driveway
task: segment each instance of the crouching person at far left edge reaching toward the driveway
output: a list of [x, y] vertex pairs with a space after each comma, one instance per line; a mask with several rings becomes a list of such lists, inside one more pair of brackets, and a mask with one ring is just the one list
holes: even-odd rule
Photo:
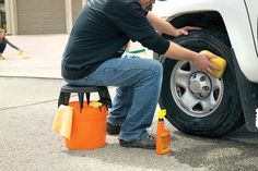
[[5, 57], [2, 56], [5, 47], [7, 47], [7, 44], [16, 49], [19, 54], [22, 54], [23, 53], [23, 50], [17, 48], [15, 45], [13, 45], [12, 42], [10, 42], [10, 40], [5, 37], [5, 30], [0, 28], [0, 60], [4, 60]]

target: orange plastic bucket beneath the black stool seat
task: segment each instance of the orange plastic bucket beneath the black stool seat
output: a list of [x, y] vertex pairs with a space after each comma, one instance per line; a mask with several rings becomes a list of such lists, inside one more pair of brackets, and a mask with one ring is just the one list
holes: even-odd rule
[[71, 138], [66, 139], [69, 149], [94, 149], [105, 146], [107, 108], [91, 107], [83, 102], [80, 111], [79, 101], [69, 103], [73, 107]]

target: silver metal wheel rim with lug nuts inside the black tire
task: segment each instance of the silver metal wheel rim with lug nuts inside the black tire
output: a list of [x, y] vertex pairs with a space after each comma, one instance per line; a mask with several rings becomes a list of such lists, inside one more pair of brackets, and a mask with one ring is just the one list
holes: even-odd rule
[[180, 110], [203, 118], [220, 106], [224, 86], [222, 78], [198, 71], [191, 62], [178, 61], [172, 71], [171, 91]]

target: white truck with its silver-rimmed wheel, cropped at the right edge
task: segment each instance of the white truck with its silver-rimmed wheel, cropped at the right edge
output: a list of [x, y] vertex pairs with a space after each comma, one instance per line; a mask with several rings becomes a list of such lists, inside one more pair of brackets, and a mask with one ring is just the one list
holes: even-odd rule
[[222, 78], [202, 73], [188, 61], [154, 54], [164, 66], [161, 108], [188, 134], [220, 137], [246, 124], [257, 132], [258, 0], [167, 0], [154, 4], [175, 27], [202, 27], [171, 39], [194, 51], [209, 50], [227, 62]]

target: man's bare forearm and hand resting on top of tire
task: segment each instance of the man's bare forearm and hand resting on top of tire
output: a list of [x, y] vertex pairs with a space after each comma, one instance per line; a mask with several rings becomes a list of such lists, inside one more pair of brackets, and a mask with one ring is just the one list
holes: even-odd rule
[[185, 26], [183, 28], [176, 28], [171, 23], [162, 20], [160, 16], [157, 16], [151, 11], [148, 12], [146, 19], [159, 33], [165, 33], [174, 37], [187, 35], [188, 30], [201, 29], [200, 27], [195, 26]]

